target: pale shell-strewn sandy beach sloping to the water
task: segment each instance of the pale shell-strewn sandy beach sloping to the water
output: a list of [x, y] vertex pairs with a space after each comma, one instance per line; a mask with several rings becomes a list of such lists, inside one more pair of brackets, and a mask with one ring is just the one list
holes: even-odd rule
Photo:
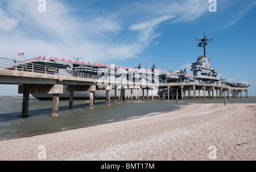
[[178, 110], [0, 141], [0, 160], [253, 160], [255, 104], [191, 104]]

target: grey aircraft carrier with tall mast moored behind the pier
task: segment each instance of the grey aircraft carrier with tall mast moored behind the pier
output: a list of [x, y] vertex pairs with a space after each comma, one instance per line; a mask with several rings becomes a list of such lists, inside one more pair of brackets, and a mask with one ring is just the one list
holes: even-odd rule
[[[197, 40], [200, 41], [197, 45], [198, 47], [204, 48], [204, 55], [201, 55], [197, 58], [195, 63], [191, 65], [191, 71], [193, 75], [189, 75], [186, 69], [179, 70], [176, 72], [171, 71], [169, 68], [163, 65], [166, 68], [166, 71], [161, 71], [159, 68], [155, 67], [155, 64], [151, 68], [141, 68], [141, 64], [137, 67], [123, 67], [115, 66], [114, 64], [105, 65], [102, 63], [94, 62], [85, 62], [79, 61], [79, 58], [73, 59], [63, 59], [56, 57], [36, 57], [29, 59], [24, 62], [18, 62], [19, 64], [25, 64], [25, 67], [29, 67], [32, 64], [47, 66], [46, 70], [52, 74], [58, 73], [58, 75], [72, 75], [77, 73], [78, 75], [88, 76], [93, 79], [99, 79], [102, 76], [108, 76], [110, 79], [120, 79], [125, 75], [127, 81], [132, 82], [141, 82], [141, 83], [200, 83], [200, 84], [214, 84], [214, 85], [227, 85], [233, 88], [247, 88], [250, 84], [229, 82], [225, 79], [218, 78], [218, 73], [212, 66], [210, 66], [210, 58], [207, 58], [205, 55], [205, 46], [208, 42], [211, 42], [212, 39], [208, 39], [207, 36]], [[57, 70], [53, 70], [53, 69]], [[157, 78], [155, 76], [158, 76]], [[146, 80], [145, 77], [146, 76]], [[79, 76], [78, 76], [79, 77]], [[156, 88], [157, 89], [157, 88]], [[155, 91], [154, 96], [158, 96], [158, 90]], [[160, 94], [162, 94], [160, 92]], [[230, 91], [230, 96], [236, 96], [237, 92]], [[171, 92], [170, 92], [171, 95]], [[39, 100], [52, 100], [51, 94], [32, 94], [35, 98]], [[105, 99], [105, 91], [96, 91], [95, 96], [97, 99]], [[110, 91], [110, 96], [114, 97], [114, 90]], [[142, 91], [139, 92], [139, 96], [142, 96]], [[184, 95], [186, 96], [186, 95]], [[69, 92], [67, 91], [67, 86], [64, 85], [63, 94], [60, 94], [60, 99], [69, 99]], [[74, 92], [74, 99], [89, 99], [89, 92]]]

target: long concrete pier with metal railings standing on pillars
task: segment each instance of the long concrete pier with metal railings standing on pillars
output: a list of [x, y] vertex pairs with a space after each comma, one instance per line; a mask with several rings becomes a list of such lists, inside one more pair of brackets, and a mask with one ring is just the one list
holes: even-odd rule
[[[5, 63], [3, 63], [5, 62]], [[11, 64], [11, 65], [10, 65]], [[114, 100], [121, 101], [142, 100], [177, 100], [195, 98], [248, 98], [248, 88], [228, 87], [225, 85], [198, 84], [198, 83], [139, 83], [135, 81], [105, 80], [97, 75], [83, 72], [64, 71], [59, 68], [10, 62], [1, 59], [0, 84], [16, 84], [18, 93], [23, 94], [22, 117], [28, 116], [29, 95], [52, 94], [52, 117], [58, 117], [59, 95], [63, 93], [63, 86], [67, 85], [69, 92], [69, 109], [73, 109], [73, 93], [76, 91], [89, 92], [89, 109], [93, 109], [95, 92], [106, 91], [106, 104], [110, 105], [110, 91], [114, 91]], [[234, 95], [230, 95], [230, 91]]]

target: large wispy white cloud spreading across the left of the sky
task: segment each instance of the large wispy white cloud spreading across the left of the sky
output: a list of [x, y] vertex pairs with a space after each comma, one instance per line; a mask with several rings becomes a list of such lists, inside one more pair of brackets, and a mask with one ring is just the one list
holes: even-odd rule
[[[194, 20], [205, 12], [200, 9], [207, 8], [200, 3], [203, 0], [163, 1], [158, 5], [147, 2], [141, 3], [143, 9], [139, 3], [123, 4], [121, 8], [134, 8], [137, 15], [126, 22], [123, 16], [131, 13], [95, 12], [92, 16], [79, 16], [75, 15], [75, 9], [59, 0], [47, 1], [47, 12], [38, 12], [37, 1], [4, 2], [1, 5], [5, 6], [0, 6], [1, 56], [13, 58], [18, 51], [24, 51], [27, 58], [39, 55], [71, 58], [74, 54], [85, 55], [88, 61], [137, 57], [161, 35], [157, 28], [163, 21]], [[130, 39], [118, 38], [127, 32]]]

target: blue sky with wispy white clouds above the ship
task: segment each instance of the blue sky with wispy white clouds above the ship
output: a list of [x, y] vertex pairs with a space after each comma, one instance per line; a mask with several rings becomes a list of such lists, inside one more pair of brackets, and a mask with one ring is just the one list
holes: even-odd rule
[[[189, 66], [203, 55], [196, 38], [205, 32], [213, 37], [206, 55], [219, 77], [250, 83], [256, 96], [256, 1], [216, 2], [217, 12], [209, 12], [208, 0], [46, 0], [46, 12], [39, 12], [38, 0], [1, 0], [0, 57], [84, 55], [118, 66], [187, 68], [192, 75]], [[16, 85], [0, 88], [2, 96], [18, 92]]]

